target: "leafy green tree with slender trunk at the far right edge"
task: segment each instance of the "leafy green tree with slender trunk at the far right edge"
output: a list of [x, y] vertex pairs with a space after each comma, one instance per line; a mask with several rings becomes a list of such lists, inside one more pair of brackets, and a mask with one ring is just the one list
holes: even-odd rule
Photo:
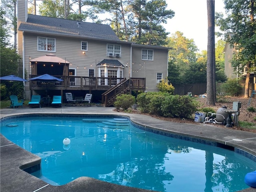
[[[231, 64], [235, 73], [246, 69], [244, 98], [249, 97], [250, 73], [256, 72], [256, 2], [255, 0], [224, 0], [226, 18], [217, 14], [217, 25], [226, 42], [237, 50]], [[238, 69], [238, 70], [237, 70]]]

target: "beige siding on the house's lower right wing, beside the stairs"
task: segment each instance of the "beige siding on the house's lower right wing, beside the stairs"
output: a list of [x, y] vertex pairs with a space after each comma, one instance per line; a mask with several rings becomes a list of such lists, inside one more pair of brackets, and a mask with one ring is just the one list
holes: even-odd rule
[[157, 74], [162, 73], [162, 78], [168, 76], [168, 50], [154, 50], [154, 60], [142, 60], [142, 49], [132, 47], [132, 73], [133, 78], [146, 78], [146, 90], [150, 92], [158, 91]]

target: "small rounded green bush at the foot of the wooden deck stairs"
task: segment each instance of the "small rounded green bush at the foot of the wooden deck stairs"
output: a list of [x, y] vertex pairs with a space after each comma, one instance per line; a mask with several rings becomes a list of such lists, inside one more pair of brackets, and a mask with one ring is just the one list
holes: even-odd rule
[[127, 110], [135, 103], [135, 97], [130, 94], [120, 94], [116, 96], [116, 101], [114, 102], [114, 106], [116, 109], [122, 108], [123, 110]]

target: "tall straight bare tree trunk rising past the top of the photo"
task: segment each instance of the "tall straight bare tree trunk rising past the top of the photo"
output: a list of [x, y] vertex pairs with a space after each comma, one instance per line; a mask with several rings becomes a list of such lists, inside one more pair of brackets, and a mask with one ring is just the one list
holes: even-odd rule
[[207, 0], [208, 16], [208, 44], [207, 44], [207, 101], [208, 105], [216, 102], [216, 76], [215, 76], [215, 0]]

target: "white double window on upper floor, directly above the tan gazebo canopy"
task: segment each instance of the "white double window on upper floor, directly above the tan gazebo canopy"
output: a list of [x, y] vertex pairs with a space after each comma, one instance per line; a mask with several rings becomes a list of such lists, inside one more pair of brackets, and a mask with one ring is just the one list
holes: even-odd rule
[[55, 52], [56, 48], [56, 39], [55, 38], [47, 38], [47, 37], [38, 37], [37, 38], [37, 50], [38, 51], [48, 51]]

